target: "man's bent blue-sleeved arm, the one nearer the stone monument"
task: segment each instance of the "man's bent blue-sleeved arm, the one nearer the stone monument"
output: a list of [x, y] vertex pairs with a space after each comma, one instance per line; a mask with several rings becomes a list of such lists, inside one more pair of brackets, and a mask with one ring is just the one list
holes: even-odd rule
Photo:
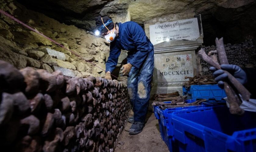
[[139, 68], [148, 54], [147, 37], [142, 27], [136, 22], [131, 24], [130, 33], [132, 33], [134, 44], [137, 47], [137, 52], [130, 61], [130, 64]]

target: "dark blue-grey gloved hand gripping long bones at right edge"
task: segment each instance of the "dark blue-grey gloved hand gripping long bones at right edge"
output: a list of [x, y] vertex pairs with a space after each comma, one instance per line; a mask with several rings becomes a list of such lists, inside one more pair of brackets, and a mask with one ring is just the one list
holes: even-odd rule
[[222, 64], [221, 70], [216, 70], [215, 67], [210, 67], [210, 71], [213, 72], [213, 76], [215, 77], [215, 81], [218, 82], [218, 86], [220, 88], [224, 88], [224, 82], [228, 80], [228, 74], [224, 73], [223, 70], [228, 71], [232, 74], [236, 80], [238, 80], [242, 85], [247, 82], [247, 76], [244, 70], [242, 70], [239, 66], [233, 64]]

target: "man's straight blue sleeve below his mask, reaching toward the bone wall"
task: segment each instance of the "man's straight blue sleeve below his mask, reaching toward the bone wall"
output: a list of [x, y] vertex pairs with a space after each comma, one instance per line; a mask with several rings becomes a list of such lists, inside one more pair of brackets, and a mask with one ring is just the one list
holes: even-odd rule
[[121, 49], [118, 48], [115, 44], [110, 44], [110, 52], [109, 57], [106, 62], [106, 71], [112, 73], [112, 71], [115, 69], [118, 61], [118, 57], [121, 53]]

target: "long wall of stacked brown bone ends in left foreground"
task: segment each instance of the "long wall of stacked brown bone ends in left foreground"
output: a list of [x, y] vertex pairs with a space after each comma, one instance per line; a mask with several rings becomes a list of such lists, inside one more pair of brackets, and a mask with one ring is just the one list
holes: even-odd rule
[[113, 151], [130, 99], [126, 85], [17, 70], [0, 60], [0, 145], [8, 151]]

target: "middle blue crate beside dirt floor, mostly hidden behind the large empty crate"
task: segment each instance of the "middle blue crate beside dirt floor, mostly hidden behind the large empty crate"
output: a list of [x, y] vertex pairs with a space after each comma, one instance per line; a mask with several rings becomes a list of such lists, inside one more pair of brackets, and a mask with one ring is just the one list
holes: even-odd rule
[[[165, 102], [165, 103], [171, 103], [171, 102]], [[209, 104], [209, 103], [203, 102], [202, 105], [169, 108], [165, 110], [160, 109], [158, 106], [154, 106], [154, 113], [155, 113], [156, 119], [158, 119], [161, 137], [162, 137], [162, 140], [166, 143], [167, 147], [169, 148], [169, 151], [176, 152], [178, 150], [177, 140], [175, 140], [175, 138], [173, 137], [174, 128], [171, 122], [172, 113], [180, 110], [209, 107], [214, 105], [218, 105], [218, 104]]]

